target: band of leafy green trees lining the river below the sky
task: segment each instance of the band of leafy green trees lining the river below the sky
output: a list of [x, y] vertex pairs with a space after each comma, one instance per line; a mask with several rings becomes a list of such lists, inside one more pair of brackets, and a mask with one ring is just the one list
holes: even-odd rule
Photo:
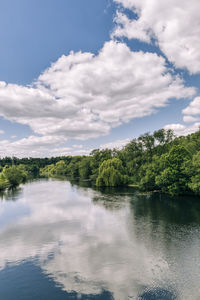
[[[9, 158], [0, 160], [1, 176], [7, 169], [23, 168], [26, 176], [66, 176], [97, 186], [136, 185], [143, 191], [171, 195], [200, 195], [200, 130], [176, 137], [160, 129], [133, 139], [122, 150], [93, 150], [88, 156]], [[6, 171], [7, 170], [7, 171]]]

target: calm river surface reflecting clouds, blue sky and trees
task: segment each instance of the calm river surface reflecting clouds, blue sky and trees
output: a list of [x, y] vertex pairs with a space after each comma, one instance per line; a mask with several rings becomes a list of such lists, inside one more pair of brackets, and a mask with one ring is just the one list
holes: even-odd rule
[[0, 299], [199, 300], [200, 200], [58, 180], [2, 195]]

